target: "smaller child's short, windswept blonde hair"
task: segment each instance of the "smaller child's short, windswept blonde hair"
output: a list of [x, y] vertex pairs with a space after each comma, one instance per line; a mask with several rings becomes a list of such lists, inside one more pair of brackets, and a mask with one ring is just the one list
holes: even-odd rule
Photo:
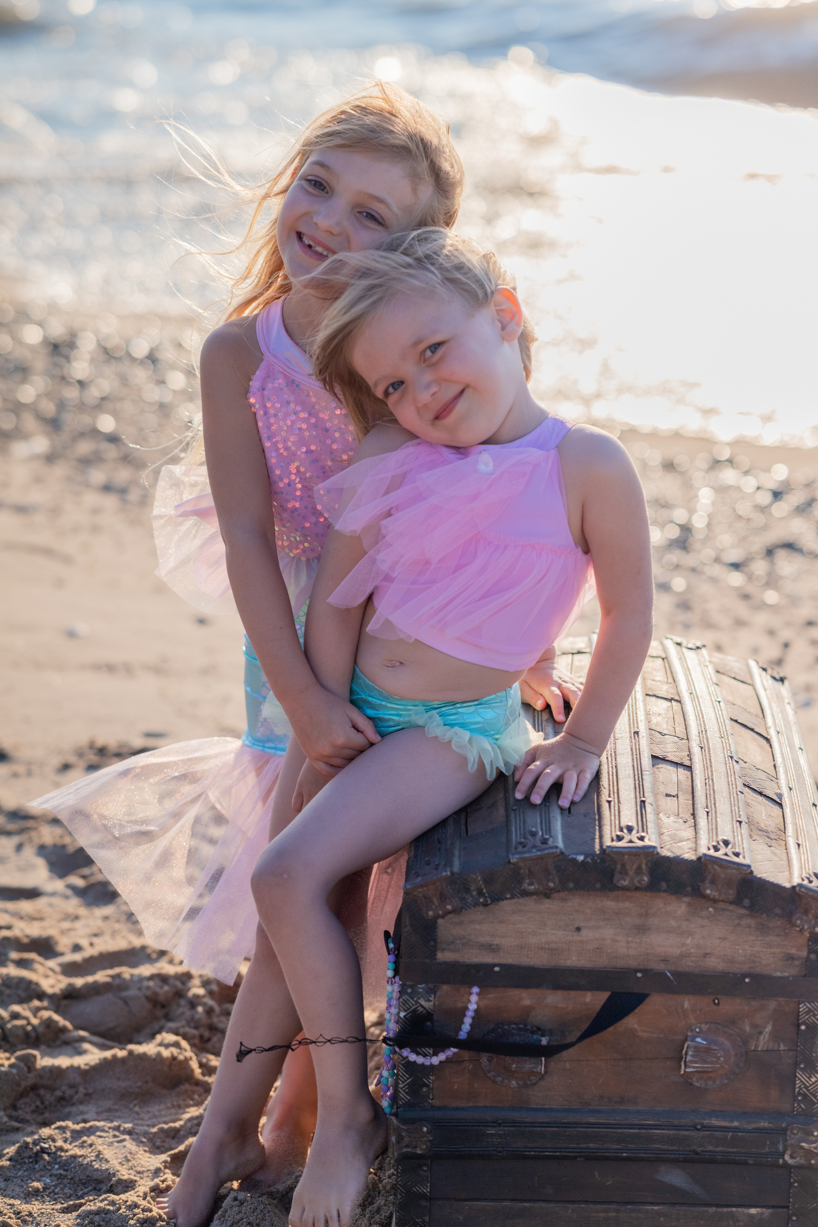
[[[313, 342], [313, 369], [346, 406], [359, 439], [378, 422], [395, 421], [386, 401], [352, 366], [352, 347], [368, 320], [407, 293], [438, 290], [478, 312], [500, 287], [516, 291], [515, 277], [493, 252], [440, 227], [395, 234], [375, 250], [334, 255], [309, 281], [315, 293], [331, 299]], [[518, 344], [526, 380], [536, 339], [524, 315]]]

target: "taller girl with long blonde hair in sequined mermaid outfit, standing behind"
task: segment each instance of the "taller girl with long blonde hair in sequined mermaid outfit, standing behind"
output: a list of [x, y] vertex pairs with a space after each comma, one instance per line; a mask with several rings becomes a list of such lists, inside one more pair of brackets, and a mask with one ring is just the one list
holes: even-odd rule
[[[312, 372], [307, 348], [325, 303], [309, 275], [336, 253], [367, 250], [415, 226], [454, 225], [462, 182], [445, 123], [377, 82], [313, 120], [260, 189], [227, 321], [201, 356], [207, 467], [166, 467], [155, 513], [159, 574], [202, 611], [239, 610], [248, 730], [242, 741], [208, 737], [140, 755], [33, 802], [63, 818], [150, 942], [228, 984], [254, 953], [228, 1050], [238, 1043], [232, 1032], [244, 1033], [248, 1017], [266, 1009], [272, 956], [256, 934], [250, 874], [293, 817], [294, 779], [276, 788], [289, 730], [330, 772], [378, 740], [368, 718], [315, 679], [299, 639], [327, 530], [313, 486], [342, 471], [357, 445], [343, 401]], [[535, 701], [557, 710], [560, 686], [565, 697], [575, 693], [549, 659], [531, 680]], [[397, 907], [400, 879], [390, 867], [369, 891], [373, 915]], [[334, 892], [347, 928], [361, 928], [367, 879]], [[234, 1063], [220, 1070], [207, 1121], [237, 1114], [234, 1071]], [[204, 1128], [169, 1201], [180, 1223], [205, 1221], [223, 1180], [254, 1171], [277, 1183], [303, 1166], [315, 1120], [308, 1050], [287, 1061], [265, 1156], [258, 1125], [272, 1081], [265, 1090], [256, 1079], [262, 1099], [250, 1155], [242, 1148], [235, 1162], [227, 1145], [213, 1157]]]

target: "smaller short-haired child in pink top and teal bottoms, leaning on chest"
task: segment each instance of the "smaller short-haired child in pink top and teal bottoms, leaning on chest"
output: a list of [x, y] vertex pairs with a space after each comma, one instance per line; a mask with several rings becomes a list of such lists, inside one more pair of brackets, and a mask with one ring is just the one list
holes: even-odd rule
[[[362, 425], [380, 425], [316, 490], [336, 531], [307, 656], [381, 740], [329, 782], [308, 761], [300, 812], [259, 860], [253, 890], [277, 975], [265, 1012], [244, 1021], [239, 1069], [266, 1082], [276, 1045], [302, 1028], [330, 1040], [312, 1049], [318, 1125], [289, 1221], [347, 1227], [385, 1117], [365, 1045], [350, 1042], [365, 1034], [361, 972], [327, 896], [468, 804], [497, 769], [535, 802], [553, 783], [560, 805], [580, 799], [644, 663], [652, 584], [633, 466], [608, 434], [533, 400], [531, 331], [491, 254], [427, 229], [336, 256], [315, 280], [335, 299], [315, 371]], [[585, 688], [559, 736], [532, 744], [520, 679], [576, 616], [592, 574], [601, 625]]]

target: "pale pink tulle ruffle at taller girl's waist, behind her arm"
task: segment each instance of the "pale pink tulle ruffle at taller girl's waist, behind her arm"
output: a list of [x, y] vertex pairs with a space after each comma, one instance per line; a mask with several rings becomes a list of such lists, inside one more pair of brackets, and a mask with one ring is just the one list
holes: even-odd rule
[[[204, 465], [166, 465], [153, 503], [155, 574], [178, 596], [206, 614], [234, 614], [227, 553]], [[293, 614], [309, 600], [318, 558], [280, 553]]]

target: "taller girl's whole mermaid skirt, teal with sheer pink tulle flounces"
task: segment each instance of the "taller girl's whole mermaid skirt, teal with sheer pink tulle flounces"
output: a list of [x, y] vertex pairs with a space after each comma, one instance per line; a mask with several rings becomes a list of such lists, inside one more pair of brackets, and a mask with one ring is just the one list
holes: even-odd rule
[[[224, 545], [204, 466], [162, 470], [153, 528], [157, 574], [196, 609], [231, 612]], [[318, 560], [280, 555], [278, 561], [303, 626]], [[255, 948], [250, 875], [267, 845], [287, 746], [285, 713], [249, 645], [244, 686], [244, 741], [206, 737], [152, 750], [32, 801], [55, 814], [93, 856], [147, 941], [226, 984]], [[352, 935], [369, 1009], [383, 1009], [383, 930], [394, 926], [401, 904], [405, 863], [403, 850], [374, 867], [367, 923]]]

